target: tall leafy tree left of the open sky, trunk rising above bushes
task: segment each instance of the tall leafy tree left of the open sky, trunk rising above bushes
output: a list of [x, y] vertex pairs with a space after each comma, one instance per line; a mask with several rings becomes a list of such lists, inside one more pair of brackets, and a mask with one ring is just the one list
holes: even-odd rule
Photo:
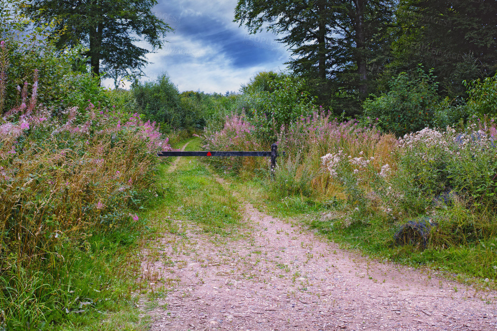
[[57, 41], [59, 49], [83, 43], [89, 48], [86, 55], [93, 73], [107, 72], [104, 77], [115, 78], [127, 69], [136, 73], [148, 63], [144, 57], [149, 51], [135, 42], [143, 38], [155, 50], [172, 31], [152, 12], [155, 4], [156, 0], [33, 0], [25, 12], [38, 24], [56, 21], [56, 28], [65, 32]]

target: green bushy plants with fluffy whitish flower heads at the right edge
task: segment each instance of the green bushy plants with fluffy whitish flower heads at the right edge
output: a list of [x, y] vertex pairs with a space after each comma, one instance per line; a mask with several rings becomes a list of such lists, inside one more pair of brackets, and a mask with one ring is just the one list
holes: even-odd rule
[[454, 190], [475, 204], [496, 204], [497, 147], [495, 126], [470, 123], [465, 131], [423, 129], [400, 140], [399, 166], [412, 173], [425, 194]]

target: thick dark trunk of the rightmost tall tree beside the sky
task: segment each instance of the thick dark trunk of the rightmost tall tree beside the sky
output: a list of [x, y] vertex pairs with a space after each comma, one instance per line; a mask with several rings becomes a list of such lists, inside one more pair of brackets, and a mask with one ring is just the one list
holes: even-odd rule
[[357, 73], [359, 75], [359, 97], [364, 100], [367, 97], [367, 69], [366, 69], [366, 36], [364, 33], [364, 8], [367, 0], [354, 0], [355, 3], [355, 43]]

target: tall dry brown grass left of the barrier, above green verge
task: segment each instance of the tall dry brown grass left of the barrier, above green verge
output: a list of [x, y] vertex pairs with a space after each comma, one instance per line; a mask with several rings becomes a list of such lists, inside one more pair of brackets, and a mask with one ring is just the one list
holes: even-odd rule
[[[152, 184], [156, 160], [138, 134], [115, 144], [105, 133], [76, 146], [74, 138], [27, 142], [2, 167], [0, 240], [24, 266], [52, 252], [61, 238], [81, 239], [89, 226], [125, 221], [136, 192]], [[2, 270], [10, 267], [7, 255]]]

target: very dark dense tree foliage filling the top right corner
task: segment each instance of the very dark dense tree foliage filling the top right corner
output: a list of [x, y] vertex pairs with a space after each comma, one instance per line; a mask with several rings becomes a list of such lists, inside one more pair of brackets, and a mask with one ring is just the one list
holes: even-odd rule
[[496, 17], [496, 1], [400, 1], [384, 85], [422, 63], [434, 68], [441, 94], [466, 97], [463, 80], [491, 77], [497, 70]]

